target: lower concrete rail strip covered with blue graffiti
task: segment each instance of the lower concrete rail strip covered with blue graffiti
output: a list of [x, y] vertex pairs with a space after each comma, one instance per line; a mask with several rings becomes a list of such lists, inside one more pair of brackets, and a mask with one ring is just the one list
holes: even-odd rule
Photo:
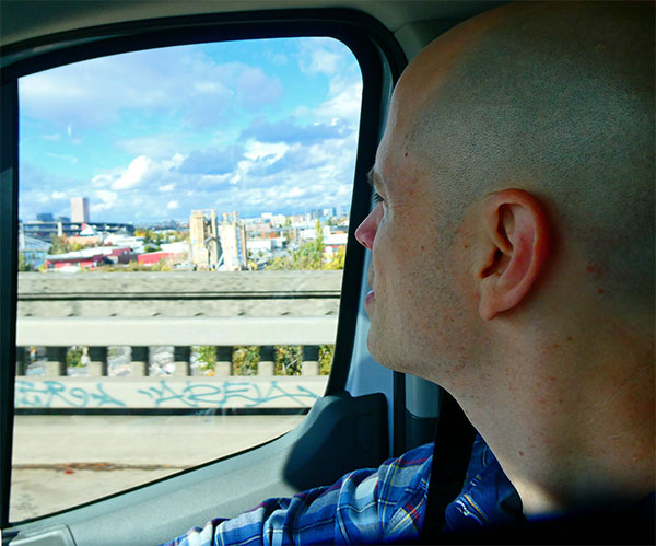
[[[144, 386], [127, 379], [109, 382], [16, 380], [17, 408], [257, 408], [309, 407], [324, 382], [296, 381], [172, 381]], [[109, 394], [112, 393], [112, 394]]]

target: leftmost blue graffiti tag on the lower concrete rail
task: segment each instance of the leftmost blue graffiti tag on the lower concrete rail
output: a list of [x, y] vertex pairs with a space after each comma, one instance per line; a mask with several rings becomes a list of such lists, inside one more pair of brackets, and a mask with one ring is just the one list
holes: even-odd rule
[[103, 383], [92, 387], [67, 386], [61, 381], [16, 380], [16, 407], [125, 407], [126, 404], [105, 392]]

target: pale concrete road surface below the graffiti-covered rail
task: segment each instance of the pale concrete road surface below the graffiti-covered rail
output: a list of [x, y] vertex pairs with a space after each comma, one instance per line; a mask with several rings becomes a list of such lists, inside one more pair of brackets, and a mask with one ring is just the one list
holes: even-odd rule
[[10, 520], [63, 510], [277, 438], [303, 416], [16, 416]]

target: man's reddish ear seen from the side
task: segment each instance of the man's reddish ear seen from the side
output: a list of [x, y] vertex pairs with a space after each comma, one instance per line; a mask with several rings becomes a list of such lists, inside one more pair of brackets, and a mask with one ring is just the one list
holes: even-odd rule
[[522, 189], [490, 194], [483, 201], [483, 252], [476, 264], [479, 315], [491, 321], [518, 305], [549, 255], [549, 220]]

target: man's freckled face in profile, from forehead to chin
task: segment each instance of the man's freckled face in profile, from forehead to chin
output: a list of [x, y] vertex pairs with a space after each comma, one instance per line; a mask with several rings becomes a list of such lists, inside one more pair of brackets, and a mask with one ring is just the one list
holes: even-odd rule
[[396, 115], [390, 119], [375, 165], [384, 202], [356, 234], [373, 252], [368, 347], [389, 368], [432, 377], [438, 351], [455, 346], [454, 352], [464, 352], [456, 338], [445, 335], [450, 332], [434, 327], [458, 314], [457, 307], [449, 312], [455, 297], [446, 289], [453, 275], [446, 259], [452, 237], [441, 235], [440, 206], [421, 166], [394, 144], [401, 121]]

